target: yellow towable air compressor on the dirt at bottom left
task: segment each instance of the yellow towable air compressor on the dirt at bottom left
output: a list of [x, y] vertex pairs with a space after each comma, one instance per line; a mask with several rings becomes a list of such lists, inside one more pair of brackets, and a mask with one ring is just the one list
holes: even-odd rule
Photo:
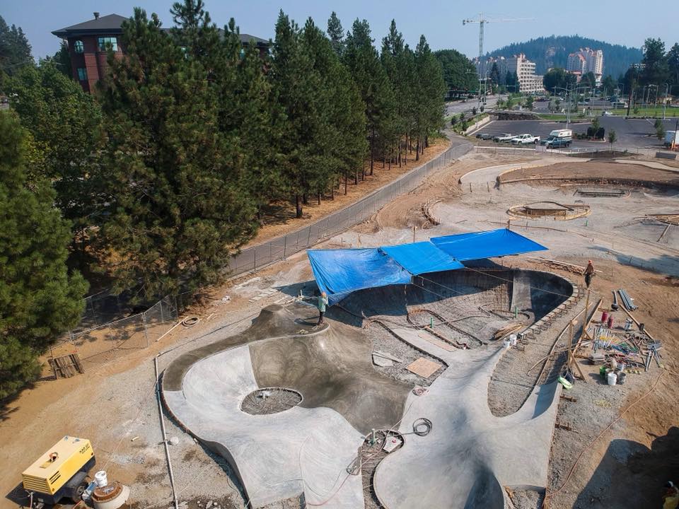
[[33, 501], [55, 504], [71, 498], [77, 502], [95, 461], [89, 440], [65, 436], [23, 471], [23, 488], [33, 493]]

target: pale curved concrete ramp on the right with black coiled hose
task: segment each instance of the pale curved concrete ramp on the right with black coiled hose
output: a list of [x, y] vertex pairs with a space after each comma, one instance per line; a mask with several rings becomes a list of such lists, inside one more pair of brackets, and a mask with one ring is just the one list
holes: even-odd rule
[[502, 352], [455, 352], [428, 394], [409, 397], [399, 431], [412, 432], [419, 417], [433, 426], [407, 435], [378, 466], [375, 491], [385, 507], [501, 509], [502, 486], [546, 486], [557, 387], [538, 387], [516, 414], [492, 416], [487, 387]]

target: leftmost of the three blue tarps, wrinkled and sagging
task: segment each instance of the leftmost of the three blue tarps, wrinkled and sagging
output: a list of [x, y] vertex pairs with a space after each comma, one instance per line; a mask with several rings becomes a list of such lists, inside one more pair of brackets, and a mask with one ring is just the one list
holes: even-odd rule
[[311, 270], [330, 305], [356, 290], [410, 283], [410, 272], [378, 247], [348, 250], [308, 250]]

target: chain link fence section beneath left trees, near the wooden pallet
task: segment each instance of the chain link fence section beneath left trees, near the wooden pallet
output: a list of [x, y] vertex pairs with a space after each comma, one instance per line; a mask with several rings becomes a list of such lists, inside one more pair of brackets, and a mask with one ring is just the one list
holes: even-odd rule
[[[119, 358], [126, 351], [146, 348], [178, 319], [176, 302], [170, 297], [158, 300], [143, 311], [130, 308], [124, 304], [124, 296], [113, 296], [108, 291], [85, 300], [83, 320], [52, 346], [50, 358], [77, 353], [83, 367], [92, 368]], [[126, 312], [128, 315], [124, 318], [111, 320]]]

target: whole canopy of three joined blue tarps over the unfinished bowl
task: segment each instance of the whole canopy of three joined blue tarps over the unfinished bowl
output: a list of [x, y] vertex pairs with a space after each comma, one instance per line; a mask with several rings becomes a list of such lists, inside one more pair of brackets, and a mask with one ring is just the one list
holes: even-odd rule
[[433, 237], [427, 242], [346, 250], [308, 250], [311, 270], [330, 305], [357, 290], [410, 283], [412, 276], [463, 269], [460, 262], [542, 251], [547, 247], [504, 228]]

